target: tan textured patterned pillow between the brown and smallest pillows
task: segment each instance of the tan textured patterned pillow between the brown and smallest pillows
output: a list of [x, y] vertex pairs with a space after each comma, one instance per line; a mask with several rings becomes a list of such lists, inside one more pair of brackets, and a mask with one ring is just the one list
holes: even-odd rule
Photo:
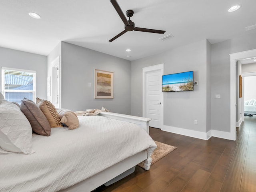
[[50, 101], [36, 98], [36, 105], [44, 113], [51, 127], [62, 127], [60, 116]]

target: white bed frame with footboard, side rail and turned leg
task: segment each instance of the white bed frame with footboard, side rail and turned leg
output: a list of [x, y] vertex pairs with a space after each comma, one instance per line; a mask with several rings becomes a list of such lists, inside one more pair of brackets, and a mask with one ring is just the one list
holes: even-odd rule
[[[99, 115], [111, 118], [111, 119], [117, 119], [122, 120], [126, 122], [131, 122], [134, 124], [138, 124], [142, 129], [146, 130], [146, 132], [149, 134], [149, 125], [148, 122], [151, 120], [149, 118], [142, 118], [142, 117], [136, 117], [131, 115], [124, 115], [124, 114], [117, 114], [112, 112], [101, 112]], [[151, 157], [147, 154], [146, 150], [135, 154], [134, 156], [131, 156], [109, 168], [106, 170], [87, 178], [86, 180], [75, 184], [74, 186], [71, 186], [69, 188], [66, 188], [65, 190], [61, 190], [62, 192], [90, 192], [97, 187], [106, 184], [111, 184], [113, 182], [116, 182], [128, 174], [132, 173], [134, 171], [134, 167], [139, 164], [140, 162], [144, 161], [144, 169], [149, 170], [150, 165], [152, 162]], [[104, 163], [104, 162], [102, 162]]]

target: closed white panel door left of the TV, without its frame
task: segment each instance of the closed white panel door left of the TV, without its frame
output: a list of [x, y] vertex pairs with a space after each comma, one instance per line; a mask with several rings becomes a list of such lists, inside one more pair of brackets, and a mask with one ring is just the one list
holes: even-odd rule
[[161, 70], [146, 72], [146, 117], [152, 119], [150, 127], [161, 128]]

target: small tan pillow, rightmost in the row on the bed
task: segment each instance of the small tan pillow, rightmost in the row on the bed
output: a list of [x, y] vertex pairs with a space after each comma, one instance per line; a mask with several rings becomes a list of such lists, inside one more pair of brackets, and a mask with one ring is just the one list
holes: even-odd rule
[[76, 129], [79, 127], [79, 120], [74, 112], [68, 109], [57, 109], [60, 115], [60, 122], [66, 124], [70, 129]]

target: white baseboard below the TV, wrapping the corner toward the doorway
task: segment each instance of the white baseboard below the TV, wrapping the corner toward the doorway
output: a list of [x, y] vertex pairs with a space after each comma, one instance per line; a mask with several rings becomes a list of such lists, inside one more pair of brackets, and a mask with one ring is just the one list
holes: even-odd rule
[[200, 132], [200, 131], [188, 130], [188, 129], [172, 127], [167, 125], [164, 125], [161, 130], [184, 135], [184, 136], [203, 139], [203, 140], [208, 140], [211, 137], [218, 137], [218, 138], [231, 140], [230, 132], [224, 132], [224, 131], [210, 130], [208, 132]]

